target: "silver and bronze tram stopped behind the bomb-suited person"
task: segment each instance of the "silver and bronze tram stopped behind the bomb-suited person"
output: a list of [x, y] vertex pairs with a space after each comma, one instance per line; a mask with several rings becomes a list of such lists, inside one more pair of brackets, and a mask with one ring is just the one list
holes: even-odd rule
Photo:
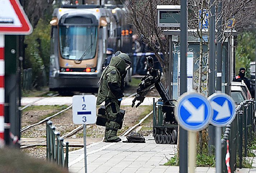
[[[97, 92], [106, 49], [131, 55], [132, 26], [122, 5], [63, 5], [50, 22], [50, 91]], [[129, 69], [126, 83], [131, 81]]]

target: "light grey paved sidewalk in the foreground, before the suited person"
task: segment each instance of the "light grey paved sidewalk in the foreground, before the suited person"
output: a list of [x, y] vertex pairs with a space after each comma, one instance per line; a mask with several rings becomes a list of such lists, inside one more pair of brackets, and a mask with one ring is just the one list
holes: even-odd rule
[[[104, 143], [87, 146], [88, 173], [178, 173], [179, 167], [164, 166], [176, 145], [156, 144], [153, 137], [146, 143]], [[125, 137], [121, 137], [126, 140]], [[69, 171], [84, 173], [84, 149], [69, 153]], [[215, 168], [197, 167], [195, 173], [215, 173]], [[256, 173], [256, 169], [238, 169], [236, 173]]]

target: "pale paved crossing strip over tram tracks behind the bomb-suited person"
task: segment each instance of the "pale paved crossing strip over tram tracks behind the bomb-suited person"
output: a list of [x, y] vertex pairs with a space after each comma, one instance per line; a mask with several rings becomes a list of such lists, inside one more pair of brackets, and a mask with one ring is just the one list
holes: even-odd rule
[[[121, 105], [131, 105], [134, 97], [124, 98]], [[158, 99], [158, 98], [156, 98]], [[22, 106], [28, 105], [34, 102], [32, 105], [70, 105], [72, 104], [72, 97], [23, 97], [21, 100]], [[136, 102], [138, 103], [138, 101]], [[141, 105], [153, 105], [153, 97], [146, 97]]]

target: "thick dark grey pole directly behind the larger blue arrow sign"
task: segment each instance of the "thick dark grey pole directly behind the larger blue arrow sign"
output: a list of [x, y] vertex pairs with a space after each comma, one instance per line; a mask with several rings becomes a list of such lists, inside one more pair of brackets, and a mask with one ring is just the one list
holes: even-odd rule
[[[181, 65], [180, 65], [180, 93], [187, 92], [187, 0], [181, 0]], [[180, 173], [187, 173], [187, 131], [181, 126], [180, 130]]]

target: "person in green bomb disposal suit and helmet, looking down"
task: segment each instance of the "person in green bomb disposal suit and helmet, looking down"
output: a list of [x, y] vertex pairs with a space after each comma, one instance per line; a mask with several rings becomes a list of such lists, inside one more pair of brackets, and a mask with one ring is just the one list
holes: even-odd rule
[[[118, 55], [117, 55], [118, 54]], [[105, 102], [106, 117], [108, 119], [105, 129], [104, 142], [119, 142], [117, 130], [122, 122], [120, 105], [124, 97], [124, 81], [126, 68], [131, 65], [130, 57], [118, 51], [111, 58], [110, 64], [104, 69], [99, 80], [97, 105]]]

